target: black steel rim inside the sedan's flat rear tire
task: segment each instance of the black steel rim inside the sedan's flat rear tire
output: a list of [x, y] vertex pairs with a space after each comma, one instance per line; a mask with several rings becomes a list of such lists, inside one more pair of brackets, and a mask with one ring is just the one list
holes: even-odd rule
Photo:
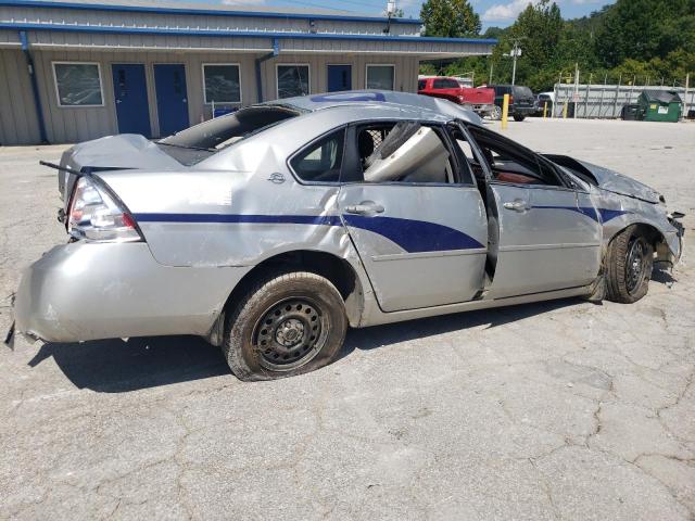
[[269, 306], [253, 330], [253, 344], [262, 367], [290, 371], [308, 364], [328, 338], [327, 315], [313, 300], [290, 297]]

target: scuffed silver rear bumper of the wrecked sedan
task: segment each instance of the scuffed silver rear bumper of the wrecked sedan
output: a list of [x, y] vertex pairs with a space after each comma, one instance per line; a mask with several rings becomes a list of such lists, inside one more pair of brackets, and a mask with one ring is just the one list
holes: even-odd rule
[[144, 243], [55, 246], [23, 274], [16, 330], [47, 342], [205, 335], [250, 269], [167, 267]]

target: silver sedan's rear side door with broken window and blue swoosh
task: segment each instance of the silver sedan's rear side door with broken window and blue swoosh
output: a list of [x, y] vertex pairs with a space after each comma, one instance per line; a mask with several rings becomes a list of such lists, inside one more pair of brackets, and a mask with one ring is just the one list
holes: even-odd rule
[[475, 298], [486, 218], [470, 171], [438, 126], [350, 127], [338, 205], [384, 312]]

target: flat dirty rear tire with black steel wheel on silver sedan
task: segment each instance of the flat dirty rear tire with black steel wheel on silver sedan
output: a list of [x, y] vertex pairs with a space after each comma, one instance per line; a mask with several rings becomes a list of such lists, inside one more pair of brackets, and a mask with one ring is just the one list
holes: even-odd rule
[[308, 271], [273, 274], [230, 310], [222, 348], [240, 380], [275, 380], [333, 361], [346, 329], [343, 298], [328, 279]]

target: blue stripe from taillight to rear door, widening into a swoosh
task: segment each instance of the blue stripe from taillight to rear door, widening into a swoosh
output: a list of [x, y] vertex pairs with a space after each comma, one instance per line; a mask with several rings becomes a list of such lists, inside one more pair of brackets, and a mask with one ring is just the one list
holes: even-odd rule
[[[134, 214], [138, 223], [293, 224], [342, 226], [336, 215]], [[372, 231], [408, 253], [484, 249], [467, 236], [443, 225], [395, 217], [344, 215], [348, 226]]]

